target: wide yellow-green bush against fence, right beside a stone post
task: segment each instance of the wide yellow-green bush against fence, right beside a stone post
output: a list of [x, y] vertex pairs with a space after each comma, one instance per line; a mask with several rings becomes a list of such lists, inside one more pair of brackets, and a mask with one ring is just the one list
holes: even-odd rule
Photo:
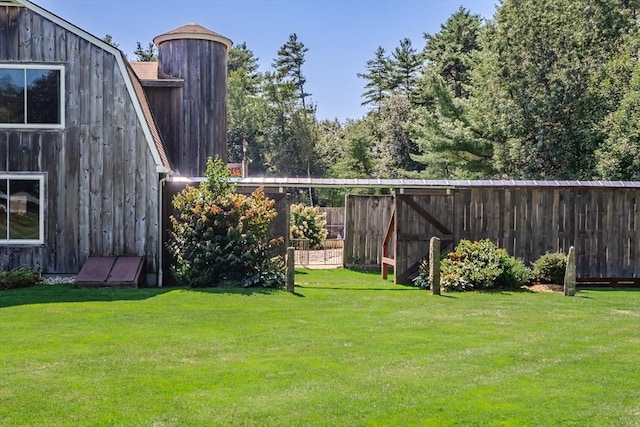
[[447, 290], [516, 289], [531, 276], [522, 260], [509, 256], [490, 240], [461, 240], [441, 265], [441, 285]]

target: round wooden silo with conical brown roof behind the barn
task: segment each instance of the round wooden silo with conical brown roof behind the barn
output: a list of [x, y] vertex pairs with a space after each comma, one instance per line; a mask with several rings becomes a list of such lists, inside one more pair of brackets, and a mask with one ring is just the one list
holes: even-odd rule
[[[202, 176], [207, 157], [227, 160], [227, 52], [231, 40], [198, 24], [153, 39], [158, 46], [158, 77], [182, 79], [182, 111], [176, 141], [167, 141], [171, 161], [183, 176]], [[169, 102], [169, 100], [167, 100]], [[162, 125], [161, 125], [162, 126]]]

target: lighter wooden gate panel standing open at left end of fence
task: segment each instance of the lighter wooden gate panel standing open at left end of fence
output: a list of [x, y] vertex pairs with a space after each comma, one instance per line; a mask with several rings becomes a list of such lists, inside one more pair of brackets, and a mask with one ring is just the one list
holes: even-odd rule
[[380, 265], [393, 197], [347, 195], [345, 212], [344, 265]]

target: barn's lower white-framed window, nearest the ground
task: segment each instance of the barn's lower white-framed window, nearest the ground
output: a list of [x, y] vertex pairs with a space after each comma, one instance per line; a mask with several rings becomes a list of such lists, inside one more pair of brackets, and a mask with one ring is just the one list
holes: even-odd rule
[[44, 243], [44, 176], [0, 175], [0, 244]]

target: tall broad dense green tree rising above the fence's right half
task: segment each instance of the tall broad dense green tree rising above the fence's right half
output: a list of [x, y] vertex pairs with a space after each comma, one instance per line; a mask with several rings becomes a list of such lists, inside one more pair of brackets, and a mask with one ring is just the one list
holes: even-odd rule
[[502, 174], [591, 179], [609, 114], [591, 82], [637, 23], [619, 0], [505, 0], [488, 49], [485, 94], [497, 117]]

